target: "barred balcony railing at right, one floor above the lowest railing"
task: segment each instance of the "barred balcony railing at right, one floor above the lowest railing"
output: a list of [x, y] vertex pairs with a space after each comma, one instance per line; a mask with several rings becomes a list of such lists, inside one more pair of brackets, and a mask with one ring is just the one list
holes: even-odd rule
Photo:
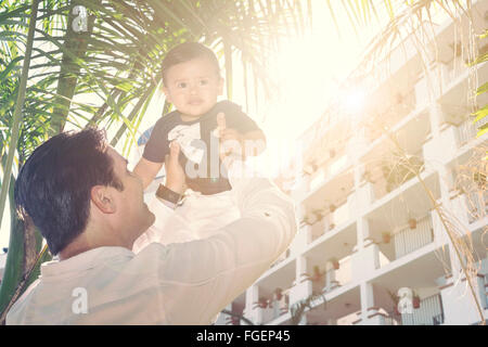
[[416, 228], [406, 227], [393, 236], [396, 259], [434, 241], [431, 215], [418, 221]]

